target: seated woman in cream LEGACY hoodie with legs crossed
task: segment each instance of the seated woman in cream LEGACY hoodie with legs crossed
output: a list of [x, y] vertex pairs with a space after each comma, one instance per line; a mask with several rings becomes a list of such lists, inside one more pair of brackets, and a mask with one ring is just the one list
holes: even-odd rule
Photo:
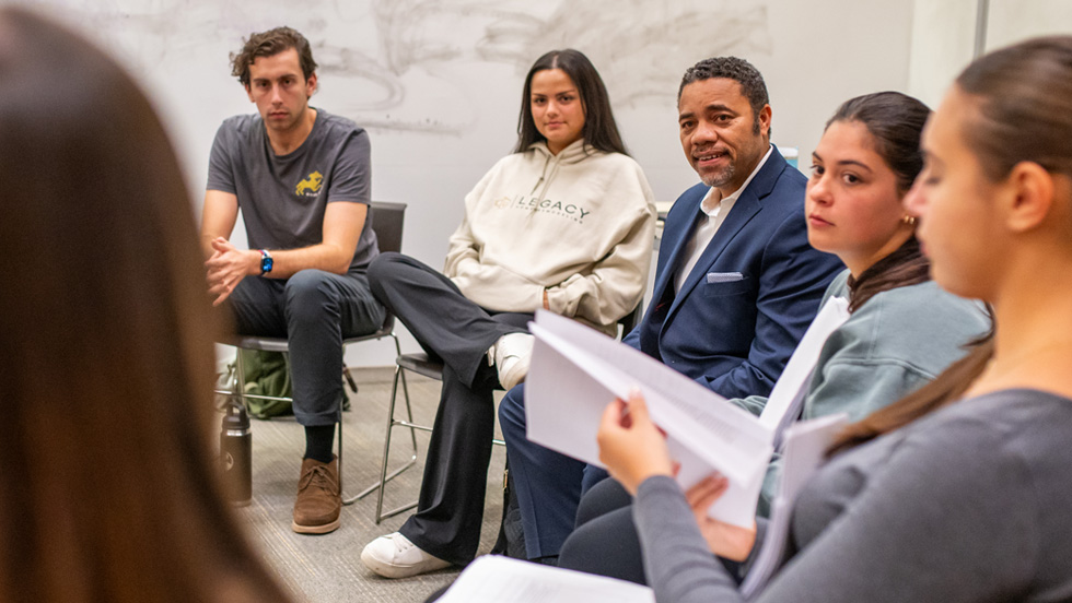
[[415, 576], [476, 555], [492, 393], [527, 374], [533, 312], [549, 309], [613, 334], [643, 296], [652, 193], [584, 55], [555, 50], [537, 59], [517, 129], [514, 153], [466, 196], [442, 273], [398, 253], [369, 268], [376, 297], [444, 364], [417, 513], [361, 554], [381, 576]]

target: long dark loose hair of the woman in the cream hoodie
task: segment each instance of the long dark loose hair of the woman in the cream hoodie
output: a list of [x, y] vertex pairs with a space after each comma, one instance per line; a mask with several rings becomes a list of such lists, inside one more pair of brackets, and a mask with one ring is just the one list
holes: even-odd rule
[[521, 115], [517, 117], [517, 146], [514, 147], [514, 153], [522, 153], [534, 142], [547, 140], [536, 129], [532, 106], [533, 75], [545, 69], [561, 69], [576, 85], [581, 106], [584, 107], [584, 129], [581, 131], [584, 144], [604, 153], [628, 155], [626, 145], [621, 142], [621, 134], [618, 133], [618, 123], [614, 120], [614, 111], [610, 110], [610, 97], [607, 95], [607, 87], [603, 85], [603, 78], [599, 78], [599, 72], [584, 54], [572, 48], [547, 52], [536, 59], [528, 70], [528, 75], [525, 75], [525, 88], [521, 94]]

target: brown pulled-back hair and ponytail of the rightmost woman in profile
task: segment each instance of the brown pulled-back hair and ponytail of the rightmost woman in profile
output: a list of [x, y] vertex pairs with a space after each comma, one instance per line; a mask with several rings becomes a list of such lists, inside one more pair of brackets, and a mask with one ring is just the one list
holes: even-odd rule
[[[955, 85], [978, 111], [962, 130], [984, 175], [1000, 180], [1019, 162], [1072, 175], [1072, 36], [1035, 38], [969, 64]], [[993, 333], [931, 383], [854, 423], [830, 452], [898, 429], [964, 395], [993, 356]]]

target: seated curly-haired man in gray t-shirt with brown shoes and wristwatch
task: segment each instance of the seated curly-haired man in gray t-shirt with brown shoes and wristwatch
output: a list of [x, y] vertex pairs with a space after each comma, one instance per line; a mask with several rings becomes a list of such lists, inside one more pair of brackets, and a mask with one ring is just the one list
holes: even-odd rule
[[[369, 135], [308, 106], [316, 63], [289, 27], [253, 34], [231, 56], [259, 115], [223, 122], [209, 159], [201, 217], [213, 304], [240, 333], [286, 336], [294, 415], [305, 426], [295, 532], [339, 525], [338, 459], [331, 452], [342, 398], [342, 339], [384, 319], [365, 268], [378, 253], [371, 221]], [[249, 249], [228, 240], [242, 209]]]

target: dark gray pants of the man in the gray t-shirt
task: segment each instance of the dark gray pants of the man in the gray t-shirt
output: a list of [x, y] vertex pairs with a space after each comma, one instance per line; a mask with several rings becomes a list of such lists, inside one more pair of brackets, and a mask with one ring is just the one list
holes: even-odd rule
[[228, 303], [240, 334], [287, 338], [298, 422], [338, 422], [342, 340], [374, 332], [385, 316], [365, 275], [302, 270], [287, 280], [247, 276]]

